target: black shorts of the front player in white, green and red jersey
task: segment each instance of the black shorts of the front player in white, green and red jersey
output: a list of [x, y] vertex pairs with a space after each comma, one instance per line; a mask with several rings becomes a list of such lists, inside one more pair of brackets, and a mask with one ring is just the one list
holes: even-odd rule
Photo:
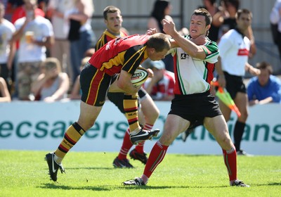
[[200, 94], [175, 95], [171, 101], [169, 114], [183, 117], [190, 121], [190, 125], [195, 122], [204, 122], [205, 117], [222, 115], [215, 97], [209, 91]]

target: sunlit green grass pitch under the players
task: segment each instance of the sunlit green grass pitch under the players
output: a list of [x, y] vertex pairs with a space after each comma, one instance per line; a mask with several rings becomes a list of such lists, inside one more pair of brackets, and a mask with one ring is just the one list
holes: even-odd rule
[[115, 169], [117, 153], [70, 152], [66, 174], [49, 180], [45, 151], [0, 150], [0, 196], [281, 196], [281, 156], [238, 156], [238, 178], [250, 188], [231, 187], [222, 155], [166, 154], [147, 186], [122, 186], [144, 165]]

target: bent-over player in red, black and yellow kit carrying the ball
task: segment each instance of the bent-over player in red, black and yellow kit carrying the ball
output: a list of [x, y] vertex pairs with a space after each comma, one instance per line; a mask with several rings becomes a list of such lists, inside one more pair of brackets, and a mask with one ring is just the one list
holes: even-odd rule
[[61, 162], [67, 152], [95, 123], [110, 87], [131, 96], [131, 99], [128, 99], [131, 110], [126, 111], [126, 118], [133, 144], [151, 139], [159, 133], [159, 129], [145, 130], [138, 123], [136, 94], [140, 87], [133, 86], [131, 76], [147, 58], [152, 61], [164, 58], [170, 46], [165, 34], [135, 34], [114, 39], [93, 53], [80, 75], [82, 95], [79, 119], [67, 129], [63, 141], [55, 152], [46, 154], [49, 174], [54, 182], [57, 181], [58, 169], [61, 172], [65, 171]]

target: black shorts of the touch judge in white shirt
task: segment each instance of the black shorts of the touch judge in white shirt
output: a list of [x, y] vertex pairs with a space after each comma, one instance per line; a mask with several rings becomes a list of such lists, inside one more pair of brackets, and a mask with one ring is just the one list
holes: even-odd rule
[[243, 78], [236, 75], [230, 75], [228, 72], [223, 72], [226, 77], [226, 90], [229, 92], [231, 98], [235, 98], [237, 92], [247, 93], [247, 89], [243, 82]]

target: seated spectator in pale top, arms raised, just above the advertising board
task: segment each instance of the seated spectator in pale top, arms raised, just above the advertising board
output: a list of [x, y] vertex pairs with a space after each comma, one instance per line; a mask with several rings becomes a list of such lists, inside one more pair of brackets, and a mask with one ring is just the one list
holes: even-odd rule
[[37, 101], [53, 102], [67, 97], [70, 80], [62, 72], [57, 58], [46, 58], [42, 63], [43, 73], [32, 84], [32, 93]]

